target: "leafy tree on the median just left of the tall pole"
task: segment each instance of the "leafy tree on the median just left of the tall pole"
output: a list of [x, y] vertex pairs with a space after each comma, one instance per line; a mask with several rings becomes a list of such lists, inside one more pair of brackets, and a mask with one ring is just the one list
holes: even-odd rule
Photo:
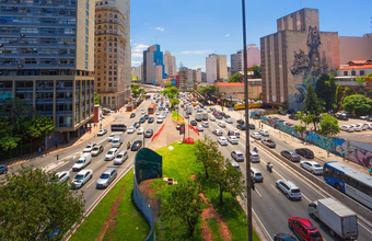
[[244, 192], [243, 173], [232, 167], [229, 159], [224, 159], [221, 152], [209, 168], [210, 182], [219, 186], [220, 204], [223, 205], [223, 193], [230, 193], [233, 197], [242, 196]]

